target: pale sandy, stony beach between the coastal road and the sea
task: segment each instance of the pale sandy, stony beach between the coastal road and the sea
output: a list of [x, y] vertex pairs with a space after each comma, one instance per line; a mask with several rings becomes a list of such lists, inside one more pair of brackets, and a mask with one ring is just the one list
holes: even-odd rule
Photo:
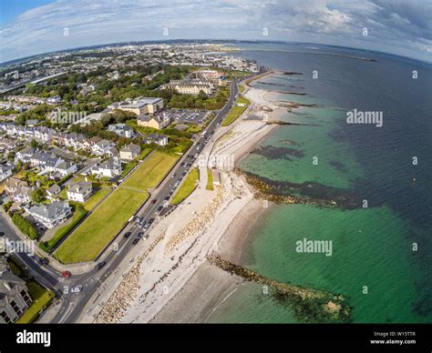
[[231, 126], [221, 127], [201, 153], [215, 161], [208, 164], [220, 171], [221, 186], [206, 189], [207, 166], [200, 163], [199, 186], [152, 229], [159, 242], [139, 259], [95, 322], [205, 322], [242, 286], [242, 278], [211, 266], [206, 256], [216, 253], [238, 262], [249, 229], [267, 205], [225, 162], [233, 156], [237, 165], [277, 128], [265, 121], [286, 111], [269, 102], [264, 90], [248, 86], [244, 96], [251, 106]]

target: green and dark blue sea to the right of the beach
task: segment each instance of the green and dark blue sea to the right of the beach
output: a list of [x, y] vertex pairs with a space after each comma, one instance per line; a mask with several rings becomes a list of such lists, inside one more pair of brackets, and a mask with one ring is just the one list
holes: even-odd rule
[[[252, 86], [273, 101], [312, 105], [287, 111], [281, 120], [299, 125], [274, 130], [240, 161], [242, 170], [281, 195], [360, 200], [268, 207], [248, 234], [241, 265], [343, 294], [355, 323], [432, 322], [432, 66], [337, 46], [236, 46], [234, 55], [302, 74]], [[348, 124], [348, 112], [375, 112], [382, 126]], [[308, 240], [331, 242], [331, 255], [301, 252], [298, 242]], [[298, 322], [256, 283], [231, 293], [207, 321]]]

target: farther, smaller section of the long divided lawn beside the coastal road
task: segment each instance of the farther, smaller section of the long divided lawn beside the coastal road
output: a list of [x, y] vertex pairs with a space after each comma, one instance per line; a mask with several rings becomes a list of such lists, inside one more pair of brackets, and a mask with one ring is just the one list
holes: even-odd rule
[[155, 151], [129, 176], [122, 184], [122, 187], [131, 187], [139, 190], [148, 190], [149, 188], [156, 187], [178, 159], [179, 156], [171, 156]]

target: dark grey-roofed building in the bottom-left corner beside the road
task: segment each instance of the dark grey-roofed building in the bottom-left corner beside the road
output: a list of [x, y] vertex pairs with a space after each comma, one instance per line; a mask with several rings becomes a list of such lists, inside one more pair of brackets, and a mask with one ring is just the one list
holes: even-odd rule
[[0, 324], [15, 322], [31, 304], [26, 282], [14, 275], [5, 257], [0, 257]]

